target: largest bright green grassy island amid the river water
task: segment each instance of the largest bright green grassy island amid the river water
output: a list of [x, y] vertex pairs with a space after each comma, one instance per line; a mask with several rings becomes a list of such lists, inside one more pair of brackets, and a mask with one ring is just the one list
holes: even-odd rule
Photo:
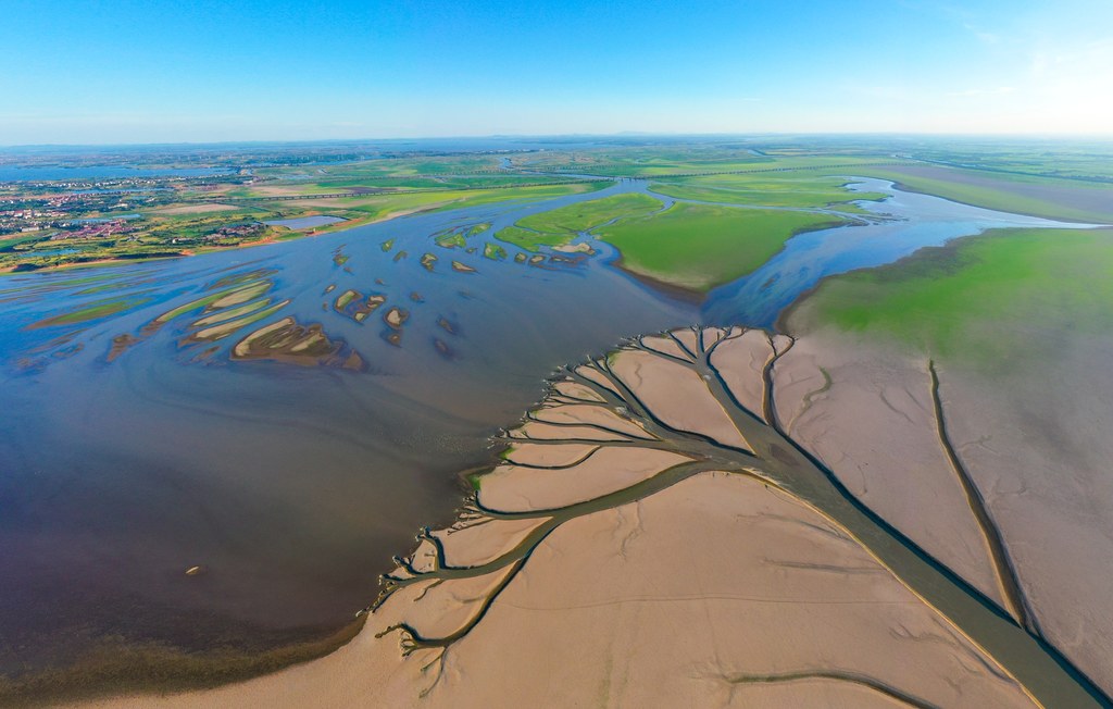
[[800, 232], [843, 224], [797, 211], [678, 203], [599, 230], [640, 276], [706, 293], [756, 270]]

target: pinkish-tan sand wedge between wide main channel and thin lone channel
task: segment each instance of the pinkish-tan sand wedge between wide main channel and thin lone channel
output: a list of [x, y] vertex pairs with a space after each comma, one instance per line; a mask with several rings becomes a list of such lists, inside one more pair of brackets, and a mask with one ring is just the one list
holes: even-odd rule
[[[819, 367], [828, 373], [827, 391]], [[983, 533], [936, 433], [927, 363], [802, 338], [776, 365], [788, 433], [855, 496], [1002, 603]], [[815, 387], [815, 388], [812, 388]]]

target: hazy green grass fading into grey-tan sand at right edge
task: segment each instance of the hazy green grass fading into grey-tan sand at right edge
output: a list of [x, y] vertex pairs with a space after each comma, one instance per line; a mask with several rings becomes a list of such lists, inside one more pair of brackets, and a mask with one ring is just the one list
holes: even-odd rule
[[820, 284], [786, 317], [993, 366], [1046, 324], [1113, 329], [1113, 229], [999, 229]]

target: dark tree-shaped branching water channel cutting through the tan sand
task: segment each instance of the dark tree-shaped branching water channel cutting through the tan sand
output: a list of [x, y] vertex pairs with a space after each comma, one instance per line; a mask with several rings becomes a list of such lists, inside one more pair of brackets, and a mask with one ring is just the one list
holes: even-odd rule
[[[732, 344], [726, 347], [728, 343]], [[427, 692], [440, 681], [453, 646], [483, 621], [501, 594], [528, 568], [533, 552], [562, 524], [637, 502], [693, 475], [722, 472], [756, 477], [826, 516], [984, 649], [1037, 701], [1046, 706], [1048, 700], [1054, 703], [1068, 697], [1077, 706], [1105, 703], [1104, 695], [1038, 637], [999, 532], [951, 444], [934, 363], [929, 371], [939, 439], [993, 550], [1007, 610], [1021, 619], [1021, 624], [1006, 618], [968, 582], [854, 499], [821, 462], [786, 434], [778, 420], [775, 384], [778, 364], [794, 345], [791, 337], [760, 329], [691, 327], [632, 338], [604, 357], [592, 357], [561, 370], [550, 382], [544, 398], [520, 424], [495, 437], [504, 446], [502, 460], [475, 477], [476, 490], [459, 511], [456, 522], [437, 532], [422, 530], [417, 550], [407, 558], [396, 558], [397, 568], [382, 577], [382, 591], [368, 610], [383, 610], [395, 594], [413, 587], [420, 587], [420, 593], [414, 589], [417, 593], [414, 602], [445, 592], [447, 585], [463, 579], [489, 577], [486, 591], [470, 605], [466, 620], [451, 632], [423, 631], [421, 621], [405, 619], [403, 612], [404, 619], [387, 624], [378, 637], [400, 633], [406, 656], [423, 650], [433, 653], [423, 667], [435, 672], [425, 689]], [[654, 393], [647, 377], [663, 377], [668, 386]], [[826, 373], [825, 381], [826, 390], [830, 386]], [[681, 401], [677, 401], [678, 396]], [[719, 423], [703, 425], [702, 418], [689, 415], [697, 405]], [[639, 456], [638, 451], [644, 455]], [[632, 456], [641, 461], [642, 467], [648, 460], [662, 462], [656, 470], [639, 473], [637, 482], [631, 484], [629, 477], [617, 477], [627, 482], [614, 483], [600, 493], [599, 476], [610, 480], [605, 470], [600, 472], [607, 469], [605, 463], [599, 462], [603, 455], [627, 456], [621, 460]], [[590, 475], [584, 472], [589, 469]], [[493, 502], [500, 499], [499, 474], [515, 475], [519, 483], [529, 484], [531, 479], [550, 473], [569, 480], [575, 480], [577, 475], [592, 477], [597, 481], [592, 488], [597, 492], [571, 503], [529, 502], [511, 508], [510, 503]], [[502, 499], [533, 500], [526, 494]], [[454, 562], [454, 555], [459, 557], [463, 550], [466, 557], [467, 551], [463, 543], [453, 551], [455, 535], [480, 525], [484, 525], [483, 533], [500, 529], [505, 532], [503, 538], [510, 540], [509, 549], [492, 552], [491, 558], [474, 563]], [[913, 707], [928, 706], [880, 682], [849, 674], [755, 676], [729, 681], [782, 682], [808, 678], [854, 682]]]

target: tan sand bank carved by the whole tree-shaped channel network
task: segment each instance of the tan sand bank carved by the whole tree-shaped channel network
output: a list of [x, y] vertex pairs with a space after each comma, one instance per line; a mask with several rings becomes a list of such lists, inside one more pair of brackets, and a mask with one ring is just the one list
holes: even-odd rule
[[[721, 651], [757, 672], [737, 680], [747, 692], [790, 683], [788, 703], [811, 695], [785, 668], [809, 667], [805, 677], [825, 678], [826, 692], [857, 683], [915, 706], [1100, 705], [1101, 691], [1056, 650], [833, 488], [788, 437], [776, 411], [811, 406], [808, 351], [761, 329], [693, 327], [572, 365], [495, 439], [505, 447], [456, 521], [423, 528], [417, 548], [395, 558], [352, 642], [246, 682], [79, 706], [530, 703], [558, 668], [577, 678], [565, 683], [573, 699], [589, 701], [610, 661], [646, 678], [611, 690], [620, 700], [683, 705], [710, 699], [713, 685], [681, 679]], [[787, 388], [775, 400], [776, 384]], [[886, 411], [873, 415], [903, 425]], [[969, 523], [961, 505], [937, 512]], [[668, 603], [639, 614], [657, 595]], [[711, 648], [706, 622], [718, 628]], [[857, 638], [849, 646], [847, 633]], [[534, 634], [545, 638], [540, 648], [522, 642]], [[737, 669], [717, 671], [738, 687], [726, 679]]]

